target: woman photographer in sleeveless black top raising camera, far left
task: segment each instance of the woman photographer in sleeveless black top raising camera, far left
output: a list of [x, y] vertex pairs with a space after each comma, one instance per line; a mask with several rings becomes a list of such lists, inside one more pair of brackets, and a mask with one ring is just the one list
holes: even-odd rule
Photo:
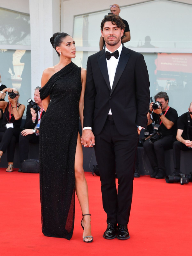
[[3, 124], [0, 129], [0, 158], [7, 150], [8, 167], [7, 172], [13, 171], [13, 158], [15, 144], [21, 131], [20, 125], [25, 106], [19, 103], [19, 92], [15, 88], [5, 88], [0, 91], [0, 99], [8, 92], [8, 102], [0, 101], [0, 108], [3, 110]]

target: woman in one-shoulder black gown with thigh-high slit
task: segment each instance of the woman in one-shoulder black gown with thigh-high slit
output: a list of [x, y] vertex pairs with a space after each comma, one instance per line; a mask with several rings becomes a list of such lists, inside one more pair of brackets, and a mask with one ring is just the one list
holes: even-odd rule
[[74, 193], [83, 215], [84, 242], [93, 241], [88, 187], [83, 171], [83, 152], [78, 133], [83, 125], [86, 70], [79, 68], [74, 40], [66, 33], [50, 39], [60, 62], [44, 70], [40, 97], [46, 111], [40, 124], [40, 197], [42, 232], [45, 236], [71, 239], [74, 226]]

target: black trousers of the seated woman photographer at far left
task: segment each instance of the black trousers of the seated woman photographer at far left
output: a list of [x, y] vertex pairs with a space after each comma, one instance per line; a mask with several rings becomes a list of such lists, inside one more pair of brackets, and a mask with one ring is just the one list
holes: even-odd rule
[[5, 131], [0, 132], [0, 151], [3, 153], [7, 150], [7, 161], [13, 162], [15, 153], [15, 144], [18, 141], [21, 130], [15, 128], [8, 128]]

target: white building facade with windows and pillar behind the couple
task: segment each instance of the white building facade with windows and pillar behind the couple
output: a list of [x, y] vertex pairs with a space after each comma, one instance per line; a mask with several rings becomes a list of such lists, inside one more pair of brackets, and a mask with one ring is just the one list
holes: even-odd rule
[[[78, 66], [99, 51], [100, 24], [111, 0], [0, 0], [0, 74], [2, 83], [20, 90], [26, 104], [40, 86], [45, 68], [58, 62], [50, 37], [66, 32], [76, 42]], [[125, 47], [141, 52], [150, 93], [166, 91], [179, 115], [192, 101], [192, 1], [119, 0], [131, 40]], [[179, 104], [178, 104], [179, 103]]]

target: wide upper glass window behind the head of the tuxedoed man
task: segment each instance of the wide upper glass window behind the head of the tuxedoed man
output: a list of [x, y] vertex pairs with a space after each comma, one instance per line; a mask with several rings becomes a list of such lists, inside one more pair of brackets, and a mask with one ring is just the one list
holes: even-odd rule
[[[108, 12], [74, 18], [76, 46], [99, 47], [101, 21]], [[122, 7], [120, 16], [127, 20], [131, 32], [131, 41], [124, 45], [129, 48], [192, 48], [191, 13], [192, 5], [165, 0]]]

